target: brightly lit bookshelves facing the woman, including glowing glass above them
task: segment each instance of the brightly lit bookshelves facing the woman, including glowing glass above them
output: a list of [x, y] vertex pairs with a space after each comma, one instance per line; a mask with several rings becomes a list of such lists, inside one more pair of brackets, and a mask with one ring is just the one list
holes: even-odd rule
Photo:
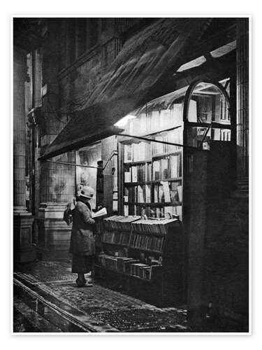
[[152, 101], [129, 120], [126, 132], [150, 140], [120, 141], [122, 214], [182, 221], [182, 104], [168, 96]]

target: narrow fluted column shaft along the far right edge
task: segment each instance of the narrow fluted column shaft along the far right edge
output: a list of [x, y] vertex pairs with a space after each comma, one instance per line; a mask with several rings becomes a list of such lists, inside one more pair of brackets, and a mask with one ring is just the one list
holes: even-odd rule
[[237, 195], [248, 196], [249, 176], [249, 18], [237, 21]]

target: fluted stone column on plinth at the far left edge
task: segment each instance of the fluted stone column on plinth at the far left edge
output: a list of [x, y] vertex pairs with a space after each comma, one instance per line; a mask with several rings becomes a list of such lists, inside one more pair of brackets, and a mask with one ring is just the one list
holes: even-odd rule
[[13, 223], [14, 261], [34, 260], [31, 244], [33, 216], [26, 209], [24, 81], [27, 73], [26, 52], [14, 46], [13, 52]]

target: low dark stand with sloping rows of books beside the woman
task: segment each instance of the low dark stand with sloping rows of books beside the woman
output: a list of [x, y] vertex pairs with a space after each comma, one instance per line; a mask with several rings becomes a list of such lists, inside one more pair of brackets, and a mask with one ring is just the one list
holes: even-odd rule
[[130, 295], [159, 306], [183, 302], [183, 241], [177, 219], [142, 220], [111, 216], [103, 220], [103, 251], [96, 274], [116, 280]]

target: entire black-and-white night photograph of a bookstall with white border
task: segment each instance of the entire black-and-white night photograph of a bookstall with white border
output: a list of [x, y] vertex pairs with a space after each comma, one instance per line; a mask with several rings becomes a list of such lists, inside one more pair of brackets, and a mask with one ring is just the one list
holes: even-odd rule
[[11, 22], [13, 334], [249, 335], [252, 16]]

